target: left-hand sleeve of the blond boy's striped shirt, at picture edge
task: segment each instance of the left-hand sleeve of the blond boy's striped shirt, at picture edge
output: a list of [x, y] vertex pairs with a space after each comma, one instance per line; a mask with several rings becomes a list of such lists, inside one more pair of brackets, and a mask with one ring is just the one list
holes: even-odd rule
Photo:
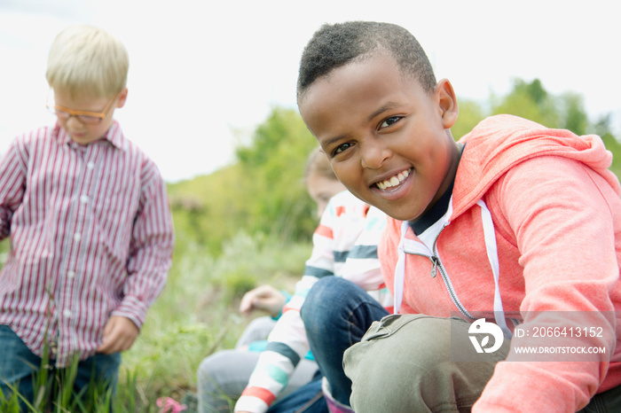
[[15, 139], [0, 158], [0, 239], [11, 234], [11, 220], [26, 191], [28, 146]]

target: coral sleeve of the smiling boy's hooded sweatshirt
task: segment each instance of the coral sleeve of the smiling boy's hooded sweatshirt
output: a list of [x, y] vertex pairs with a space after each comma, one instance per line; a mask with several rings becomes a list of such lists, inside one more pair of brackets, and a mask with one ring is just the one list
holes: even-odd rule
[[514, 339], [473, 412], [509, 412], [517, 405], [521, 411], [578, 411], [606, 378], [616, 345], [610, 295], [619, 278], [618, 196], [593, 170], [556, 157], [512, 168], [490, 196], [521, 253], [526, 285], [521, 328], [550, 323], [551, 312], [554, 323], [567, 326], [576, 323], [577, 314], [588, 315], [590, 325], [602, 328], [601, 337], [582, 336], [571, 345], [607, 351], [587, 362], [572, 362], [569, 355], [534, 361], [516, 354]]

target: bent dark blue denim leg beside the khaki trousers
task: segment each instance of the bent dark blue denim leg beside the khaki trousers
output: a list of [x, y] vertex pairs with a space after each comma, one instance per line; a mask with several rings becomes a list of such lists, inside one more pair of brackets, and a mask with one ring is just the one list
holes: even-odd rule
[[351, 380], [342, 370], [342, 355], [362, 339], [373, 321], [388, 315], [365, 290], [340, 277], [321, 278], [304, 300], [301, 316], [311, 352], [332, 396], [346, 406]]

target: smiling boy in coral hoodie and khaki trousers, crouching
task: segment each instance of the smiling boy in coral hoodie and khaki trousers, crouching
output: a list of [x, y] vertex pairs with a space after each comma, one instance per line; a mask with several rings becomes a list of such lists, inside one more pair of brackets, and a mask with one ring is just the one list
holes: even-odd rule
[[[345, 353], [353, 409], [621, 409], [621, 191], [599, 136], [501, 115], [455, 143], [451, 83], [436, 82], [413, 35], [385, 23], [321, 27], [297, 91], [335, 174], [389, 215], [381, 268], [403, 316], [373, 323]], [[596, 325], [601, 335], [570, 343], [607, 351], [542, 362], [506, 339], [490, 360], [459, 362], [477, 318], [507, 338], [517, 323]]]

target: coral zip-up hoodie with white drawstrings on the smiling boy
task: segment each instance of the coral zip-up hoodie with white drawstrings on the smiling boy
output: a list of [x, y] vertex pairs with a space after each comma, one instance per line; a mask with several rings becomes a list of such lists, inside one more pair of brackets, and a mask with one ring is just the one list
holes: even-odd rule
[[460, 142], [466, 146], [434, 245], [389, 218], [379, 250], [386, 284], [403, 314], [460, 312], [503, 327], [505, 317], [516, 318], [526, 330], [546, 323], [550, 313], [542, 312], [589, 312], [601, 337], [579, 342], [608, 354], [593, 362], [511, 362], [519, 359], [512, 347], [473, 410], [577, 411], [621, 384], [621, 346], [612, 350], [621, 337], [621, 190], [608, 170], [612, 156], [599, 136], [509, 115], [488, 118]]

